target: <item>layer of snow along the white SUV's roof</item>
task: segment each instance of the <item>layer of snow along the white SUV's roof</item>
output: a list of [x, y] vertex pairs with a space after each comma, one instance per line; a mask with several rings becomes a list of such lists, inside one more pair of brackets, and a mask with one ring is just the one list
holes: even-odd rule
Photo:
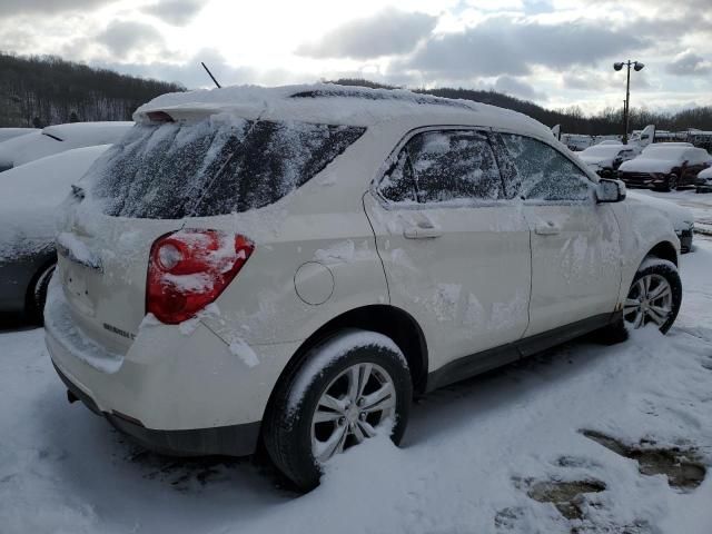
[[551, 137], [546, 126], [508, 109], [404, 89], [369, 89], [335, 83], [269, 88], [234, 86], [171, 92], [138, 108], [134, 119], [137, 122], [147, 121], [151, 111], [166, 111], [178, 120], [228, 112], [247, 119], [287, 118], [366, 127], [397, 119], [422, 120], [423, 123], [497, 125]]

